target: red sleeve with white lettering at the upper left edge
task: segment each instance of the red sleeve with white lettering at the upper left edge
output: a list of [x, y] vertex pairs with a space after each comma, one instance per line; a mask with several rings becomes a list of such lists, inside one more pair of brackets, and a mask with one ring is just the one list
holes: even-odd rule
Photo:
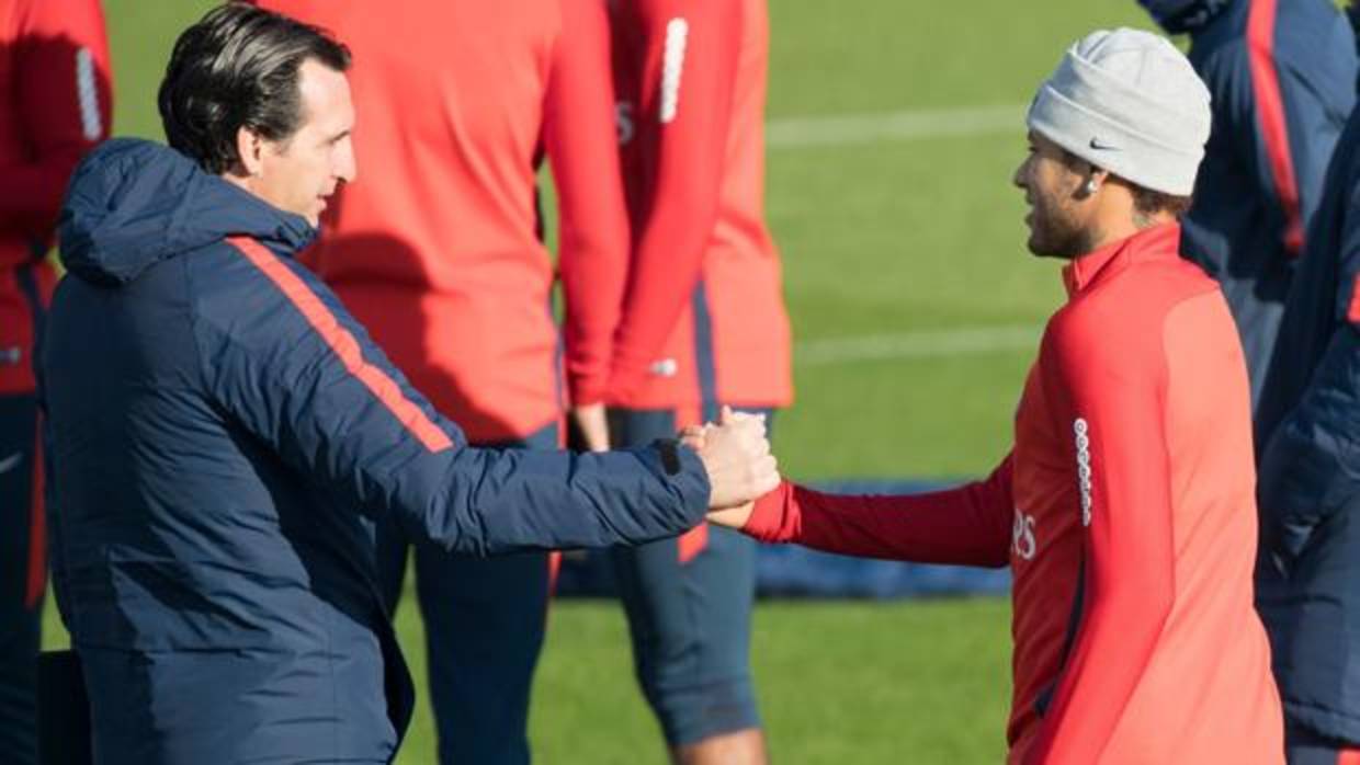
[[97, 0], [19, 3], [15, 103], [30, 147], [0, 166], [0, 226], [46, 242], [76, 162], [109, 137], [109, 43]]

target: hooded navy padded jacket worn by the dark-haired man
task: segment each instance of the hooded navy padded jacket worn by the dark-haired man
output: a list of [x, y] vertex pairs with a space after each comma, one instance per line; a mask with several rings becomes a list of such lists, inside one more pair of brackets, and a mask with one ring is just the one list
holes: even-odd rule
[[412, 690], [379, 516], [475, 554], [703, 518], [684, 448], [465, 447], [292, 260], [311, 236], [159, 144], [110, 141], [73, 177], [41, 386], [97, 762], [390, 760]]

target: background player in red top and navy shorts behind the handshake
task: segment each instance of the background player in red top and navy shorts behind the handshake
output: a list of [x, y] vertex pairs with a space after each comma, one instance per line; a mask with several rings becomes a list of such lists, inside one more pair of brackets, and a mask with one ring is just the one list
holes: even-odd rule
[[[632, 257], [607, 401], [617, 444], [792, 401], [764, 221], [764, 0], [609, 3]], [[608, 299], [601, 292], [601, 299]], [[763, 762], [755, 549], [699, 527], [615, 550], [634, 663], [676, 762]]]

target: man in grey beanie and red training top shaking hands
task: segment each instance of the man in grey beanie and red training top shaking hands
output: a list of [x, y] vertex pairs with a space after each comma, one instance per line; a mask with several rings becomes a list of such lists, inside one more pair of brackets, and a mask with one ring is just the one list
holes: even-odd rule
[[770, 542], [1015, 573], [1009, 762], [1284, 761], [1253, 610], [1246, 366], [1217, 285], [1178, 253], [1209, 94], [1166, 39], [1098, 31], [1028, 115], [1030, 250], [1070, 261], [981, 482], [913, 497], [783, 484], [710, 515]]

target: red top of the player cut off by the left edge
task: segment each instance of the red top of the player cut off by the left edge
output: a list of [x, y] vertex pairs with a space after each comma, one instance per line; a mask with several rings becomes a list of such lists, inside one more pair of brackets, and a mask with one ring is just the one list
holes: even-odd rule
[[95, 0], [0, 0], [0, 394], [34, 389], [33, 306], [15, 269], [38, 265], [76, 162], [109, 136], [109, 46]]

